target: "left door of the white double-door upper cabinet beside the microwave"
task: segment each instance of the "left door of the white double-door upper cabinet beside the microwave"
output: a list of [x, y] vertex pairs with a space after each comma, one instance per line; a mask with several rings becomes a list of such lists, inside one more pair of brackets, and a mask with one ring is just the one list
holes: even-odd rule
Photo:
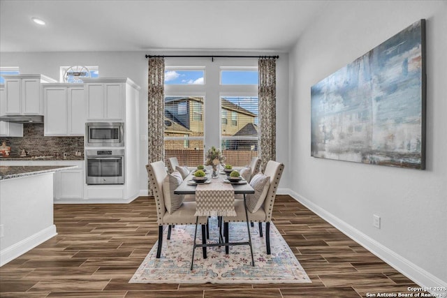
[[67, 88], [44, 87], [44, 135], [67, 135]]

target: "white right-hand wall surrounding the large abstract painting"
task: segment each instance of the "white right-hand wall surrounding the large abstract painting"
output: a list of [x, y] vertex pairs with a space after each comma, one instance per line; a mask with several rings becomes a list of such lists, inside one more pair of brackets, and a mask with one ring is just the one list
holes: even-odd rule
[[[312, 85], [423, 18], [427, 19], [427, 170], [312, 158]], [[444, 285], [446, 34], [446, 1], [331, 1], [289, 53], [289, 150], [291, 167], [296, 169], [288, 184], [291, 193], [369, 241], [377, 253], [386, 252], [383, 255], [402, 265], [418, 282], [442, 281]], [[372, 226], [373, 214], [381, 216], [380, 230]]]

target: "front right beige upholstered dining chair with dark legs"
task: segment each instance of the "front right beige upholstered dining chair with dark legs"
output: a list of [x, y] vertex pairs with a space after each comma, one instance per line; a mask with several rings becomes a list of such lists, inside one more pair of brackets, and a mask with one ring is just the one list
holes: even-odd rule
[[[259, 201], [259, 204], [261, 204], [259, 209], [254, 212], [248, 212], [249, 221], [251, 221], [251, 223], [259, 223], [259, 235], [261, 237], [263, 237], [262, 223], [265, 223], [265, 246], [267, 247], [268, 255], [270, 255], [270, 222], [272, 221], [273, 204], [277, 194], [279, 180], [281, 179], [283, 171], [284, 163], [278, 163], [276, 161], [269, 161], [267, 163], [267, 165], [265, 166], [264, 176], [270, 177], [268, 191], [266, 192], [264, 198], [260, 198], [260, 200], [263, 200], [263, 202]], [[264, 192], [262, 191], [262, 193]], [[247, 221], [245, 216], [244, 200], [235, 200], [235, 210], [237, 216], [223, 217], [223, 234], [226, 237], [226, 242], [229, 241], [228, 223]], [[228, 253], [228, 246], [226, 246], [225, 251], [226, 253]]]

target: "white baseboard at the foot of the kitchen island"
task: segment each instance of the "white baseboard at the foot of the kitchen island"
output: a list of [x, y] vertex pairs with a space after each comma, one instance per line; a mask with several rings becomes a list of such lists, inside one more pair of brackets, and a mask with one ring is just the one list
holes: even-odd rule
[[4, 248], [0, 251], [0, 267], [56, 235], [56, 225], [50, 225], [30, 237]]

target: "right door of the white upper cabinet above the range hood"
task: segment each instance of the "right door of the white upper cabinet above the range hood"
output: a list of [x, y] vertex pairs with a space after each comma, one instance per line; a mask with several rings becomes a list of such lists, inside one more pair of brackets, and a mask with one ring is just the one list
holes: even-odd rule
[[41, 81], [22, 79], [22, 114], [41, 115]]

